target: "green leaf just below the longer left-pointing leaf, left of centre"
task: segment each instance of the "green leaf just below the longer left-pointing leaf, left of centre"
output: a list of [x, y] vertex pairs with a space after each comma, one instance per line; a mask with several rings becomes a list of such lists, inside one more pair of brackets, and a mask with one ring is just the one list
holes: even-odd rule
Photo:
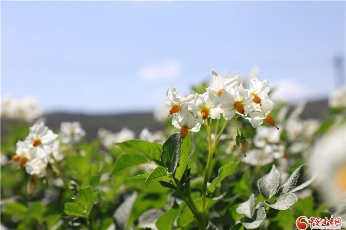
[[140, 164], [147, 164], [146, 156], [139, 153], [123, 153], [115, 162], [110, 176], [121, 175], [125, 170]]

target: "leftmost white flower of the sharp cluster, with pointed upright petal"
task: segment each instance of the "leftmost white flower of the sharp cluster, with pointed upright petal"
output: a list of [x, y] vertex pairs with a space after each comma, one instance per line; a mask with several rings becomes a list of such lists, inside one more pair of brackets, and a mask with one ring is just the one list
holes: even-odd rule
[[187, 99], [177, 94], [174, 86], [171, 83], [170, 85], [171, 87], [166, 90], [166, 97], [168, 98], [166, 104], [171, 107], [168, 115], [170, 116], [179, 112], [182, 113], [182, 115], [187, 114]]

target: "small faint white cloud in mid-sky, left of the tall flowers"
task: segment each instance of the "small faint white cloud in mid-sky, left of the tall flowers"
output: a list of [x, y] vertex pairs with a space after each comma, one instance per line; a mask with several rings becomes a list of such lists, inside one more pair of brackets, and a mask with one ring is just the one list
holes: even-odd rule
[[176, 60], [156, 63], [145, 66], [139, 70], [140, 77], [147, 81], [156, 81], [161, 79], [172, 79], [181, 72], [181, 64]]

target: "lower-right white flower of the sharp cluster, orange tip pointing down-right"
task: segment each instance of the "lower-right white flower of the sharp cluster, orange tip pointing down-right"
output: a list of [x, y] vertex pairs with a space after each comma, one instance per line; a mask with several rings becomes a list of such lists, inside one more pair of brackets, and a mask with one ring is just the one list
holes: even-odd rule
[[274, 102], [267, 100], [262, 101], [261, 106], [259, 104], [252, 103], [250, 105], [250, 117], [246, 117], [252, 125], [252, 127], [257, 128], [265, 120], [268, 124], [274, 126], [275, 120], [269, 115], [269, 113], [274, 108]]

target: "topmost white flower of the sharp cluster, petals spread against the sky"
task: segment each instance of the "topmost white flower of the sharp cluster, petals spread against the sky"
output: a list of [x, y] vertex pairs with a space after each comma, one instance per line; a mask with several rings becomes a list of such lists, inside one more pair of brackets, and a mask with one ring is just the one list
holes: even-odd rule
[[212, 69], [213, 81], [212, 84], [206, 88], [207, 92], [216, 92], [217, 96], [222, 95], [223, 90], [229, 90], [238, 85], [238, 75], [233, 78], [222, 77], [215, 70]]

